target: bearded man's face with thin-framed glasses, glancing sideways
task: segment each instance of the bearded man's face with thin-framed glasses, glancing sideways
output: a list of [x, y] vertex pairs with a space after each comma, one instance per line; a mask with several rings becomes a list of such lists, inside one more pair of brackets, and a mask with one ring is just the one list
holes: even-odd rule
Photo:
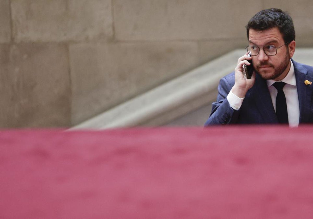
[[[290, 58], [295, 50], [295, 41], [292, 45], [284, 45], [284, 39], [278, 28], [270, 28], [267, 30], [249, 30], [249, 45], [259, 46], [260, 52], [257, 56], [252, 56], [253, 66], [263, 79], [274, 79], [279, 81], [288, 74], [290, 69]], [[268, 56], [262, 49], [265, 45], [274, 45], [277, 49], [277, 54]], [[294, 47], [293, 47], [294, 46]], [[290, 49], [289, 49], [290, 47]]]

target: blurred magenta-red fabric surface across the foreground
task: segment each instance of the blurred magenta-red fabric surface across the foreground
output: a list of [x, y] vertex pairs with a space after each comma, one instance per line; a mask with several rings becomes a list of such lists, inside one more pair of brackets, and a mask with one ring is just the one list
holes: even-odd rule
[[313, 126], [0, 131], [0, 218], [313, 218]]

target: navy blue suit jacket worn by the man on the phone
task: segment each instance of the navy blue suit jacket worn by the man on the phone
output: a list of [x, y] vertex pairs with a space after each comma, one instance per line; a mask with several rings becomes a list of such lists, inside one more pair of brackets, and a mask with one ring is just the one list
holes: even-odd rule
[[[292, 60], [295, 68], [296, 86], [299, 97], [300, 123], [313, 123], [313, 67]], [[240, 109], [230, 107], [227, 95], [235, 84], [234, 72], [223, 77], [218, 85], [217, 101], [212, 104], [212, 112], [205, 126], [213, 124], [275, 124], [278, 123], [266, 80], [256, 74], [255, 83], [244, 97]]]

